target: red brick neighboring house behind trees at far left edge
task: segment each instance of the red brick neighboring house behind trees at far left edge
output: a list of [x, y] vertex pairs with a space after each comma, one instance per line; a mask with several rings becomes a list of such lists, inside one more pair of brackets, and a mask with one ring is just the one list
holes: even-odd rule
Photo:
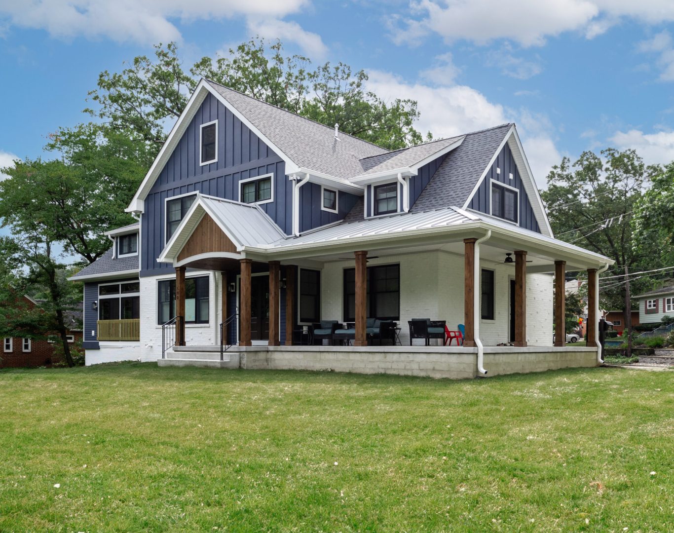
[[[29, 296], [23, 296], [32, 307], [39, 305]], [[82, 306], [66, 313], [68, 341], [71, 348], [82, 343]], [[32, 340], [21, 337], [5, 337], [0, 350], [0, 368], [50, 367], [61, 361], [55, 349], [55, 342], [49, 340]]]

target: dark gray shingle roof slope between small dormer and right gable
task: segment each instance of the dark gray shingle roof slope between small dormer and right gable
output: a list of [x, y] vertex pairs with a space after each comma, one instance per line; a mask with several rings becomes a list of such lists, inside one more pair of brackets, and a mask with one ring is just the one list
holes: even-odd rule
[[445, 206], [463, 207], [510, 127], [512, 124], [503, 124], [468, 133], [461, 146], [452, 150], [435, 171], [411, 209], [427, 211]]

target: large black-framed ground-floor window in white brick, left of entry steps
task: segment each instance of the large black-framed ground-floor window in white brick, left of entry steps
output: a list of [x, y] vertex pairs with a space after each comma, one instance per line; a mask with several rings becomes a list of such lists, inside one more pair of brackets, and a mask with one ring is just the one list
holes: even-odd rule
[[[158, 323], [175, 317], [175, 280], [158, 283]], [[185, 323], [207, 324], [209, 313], [208, 276], [185, 280]]]

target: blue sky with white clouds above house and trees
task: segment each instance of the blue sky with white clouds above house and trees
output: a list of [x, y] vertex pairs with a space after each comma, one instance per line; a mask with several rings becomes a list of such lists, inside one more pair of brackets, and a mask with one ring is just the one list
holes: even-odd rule
[[88, 120], [102, 70], [179, 42], [185, 66], [256, 34], [344, 61], [386, 98], [419, 100], [436, 137], [518, 125], [545, 184], [561, 156], [674, 159], [674, 2], [642, 0], [0, 0], [0, 166], [44, 156]]

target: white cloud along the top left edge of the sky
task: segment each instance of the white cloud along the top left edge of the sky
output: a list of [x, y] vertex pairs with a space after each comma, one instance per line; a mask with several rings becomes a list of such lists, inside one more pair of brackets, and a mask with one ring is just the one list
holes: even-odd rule
[[308, 1], [0, 0], [0, 27], [42, 29], [57, 38], [106, 37], [117, 42], [154, 44], [181, 39], [171, 20], [189, 22], [243, 16], [272, 21], [297, 13]]

